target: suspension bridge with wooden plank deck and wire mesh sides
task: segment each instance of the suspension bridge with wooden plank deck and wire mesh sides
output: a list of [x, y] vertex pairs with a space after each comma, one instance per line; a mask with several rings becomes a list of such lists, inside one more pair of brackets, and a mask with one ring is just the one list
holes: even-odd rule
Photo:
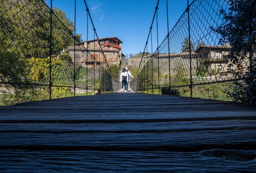
[[[122, 59], [118, 38], [98, 37], [84, 2], [94, 39], [82, 43], [52, 1], [0, 4], [2, 172], [256, 170], [255, 107], [196, 98], [201, 86], [229, 92], [225, 84], [251, 72], [250, 55], [235, 64], [227, 59], [232, 45], [218, 44], [227, 0], [188, 3], [153, 50], [158, 0], [137, 59]], [[135, 78], [122, 92], [126, 66]]]

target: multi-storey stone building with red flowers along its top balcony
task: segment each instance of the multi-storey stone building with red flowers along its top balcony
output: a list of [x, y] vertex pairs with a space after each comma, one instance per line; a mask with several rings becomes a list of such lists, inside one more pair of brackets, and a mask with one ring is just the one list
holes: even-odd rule
[[[76, 47], [69, 46], [69, 53], [75, 65], [82, 65], [88, 68], [99, 68], [99, 65], [120, 64], [122, 57], [121, 44], [123, 42], [117, 37], [106, 37], [93, 39], [76, 44]], [[75, 57], [75, 58], [74, 58]]]

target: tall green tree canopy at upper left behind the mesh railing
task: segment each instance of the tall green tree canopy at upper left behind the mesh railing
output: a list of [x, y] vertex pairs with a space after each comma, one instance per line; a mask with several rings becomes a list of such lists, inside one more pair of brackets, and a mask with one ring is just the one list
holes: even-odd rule
[[[6, 9], [4, 6], [9, 7]], [[62, 21], [53, 19], [52, 39], [50, 38], [49, 9], [40, 1], [31, 0], [23, 3], [22, 0], [3, 0], [0, 4], [0, 53], [3, 60], [9, 55], [16, 56], [16, 61], [24, 58], [48, 57], [52, 40], [53, 54], [61, 53], [63, 48], [70, 45], [73, 23], [67, 19], [65, 13], [55, 9], [54, 13]], [[66, 24], [68, 31], [63, 24]], [[12, 28], [11, 30], [9, 28]], [[26, 39], [29, 38], [29, 39]], [[11, 54], [10, 54], [11, 53]]]

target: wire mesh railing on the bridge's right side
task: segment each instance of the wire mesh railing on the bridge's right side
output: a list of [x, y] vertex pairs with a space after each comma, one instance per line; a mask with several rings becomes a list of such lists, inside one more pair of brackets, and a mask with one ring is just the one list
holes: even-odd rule
[[[234, 62], [230, 57], [230, 52], [234, 52], [234, 42], [224, 40], [218, 32], [227, 24], [223, 11], [229, 13], [231, 3], [230, 0], [194, 0], [190, 5], [188, 3], [180, 20], [157, 50], [142, 55], [136, 79], [130, 82], [130, 88], [154, 94], [170, 94], [183, 88], [192, 96], [196, 85], [238, 81], [249, 74], [250, 62], [252, 65], [252, 59], [255, 60], [255, 49], [252, 49], [253, 56], [245, 52]], [[157, 16], [153, 22], [157, 22], [156, 19]], [[255, 21], [250, 21], [249, 25], [252, 22]], [[253, 38], [255, 40], [255, 36]], [[147, 52], [149, 40], [144, 52]], [[241, 47], [243, 44], [240, 42]]]

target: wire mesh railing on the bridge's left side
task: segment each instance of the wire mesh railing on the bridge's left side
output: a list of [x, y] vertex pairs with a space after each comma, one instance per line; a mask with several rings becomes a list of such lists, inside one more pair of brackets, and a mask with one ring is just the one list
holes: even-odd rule
[[[49, 3], [1, 0], [0, 105], [117, 89], [101, 47], [97, 58], [78, 48], [75, 22]], [[90, 35], [98, 40], [94, 26]]]

